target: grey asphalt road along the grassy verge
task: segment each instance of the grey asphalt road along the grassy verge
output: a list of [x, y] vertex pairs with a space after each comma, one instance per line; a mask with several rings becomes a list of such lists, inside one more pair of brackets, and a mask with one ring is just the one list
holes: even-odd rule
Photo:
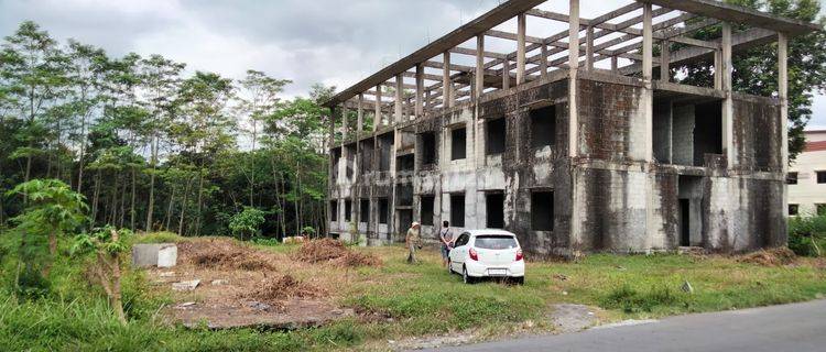
[[826, 351], [826, 300], [436, 351]]

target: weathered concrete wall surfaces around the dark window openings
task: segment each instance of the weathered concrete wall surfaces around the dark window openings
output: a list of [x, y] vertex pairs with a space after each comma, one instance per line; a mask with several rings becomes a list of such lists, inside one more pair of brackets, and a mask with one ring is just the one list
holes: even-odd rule
[[[434, 199], [433, 226], [423, 227], [422, 234], [435, 242], [441, 221], [450, 219], [452, 197], [465, 197], [464, 228], [469, 229], [487, 226], [486, 197], [501, 194], [504, 229], [517, 233], [525, 250], [534, 253], [675, 249], [681, 245], [684, 217], [680, 199], [689, 202], [689, 245], [742, 251], [784, 243], [779, 110], [771, 100], [735, 100], [737, 160], [727, 168], [721, 142], [714, 135], [719, 131], [714, 105], [719, 102], [655, 100], [653, 125], [648, 125], [639, 80], [589, 78], [576, 86], [579, 156], [575, 158], [568, 156], [564, 76], [384, 128], [352, 144], [358, 145], [358, 156], [350, 155], [351, 147], [340, 148], [330, 191], [339, 201], [332, 231], [349, 230], [344, 201], [351, 199], [357, 212], [351, 221], [360, 222], [359, 232], [370, 244], [400, 241], [409, 227], [402, 223], [402, 211], [412, 210], [412, 220], [420, 221], [421, 197], [427, 196]], [[534, 147], [531, 110], [547, 106], [555, 106], [554, 143]], [[504, 119], [504, 148], [490, 154], [486, 122], [497, 119]], [[452, 158], [455, 129], [466, 129], [466, 154], [459, 160]], [[769, 141], [761, 131], [768, 131]], [[430, 147], [435, 151], [435, 162], [426, 165], [424, 133], [432, 133]], [[653, 140], [653, 163], [648, 161], [646, 138]], [[411, 152], [415, 170], [398, 170], [396, 156]], [[358, 172], [348, 174], [348, 167]], [[411, 186], [412, 204], [402, 199], [406, 196], [400, 198]], [[553, 193], [552, 230], [532, 228], [535, 191]], [[382, 198], [391, 212], [387, 224], [378, 223]], [[360, 213], [361, 199], [370, 200], [369, 215]]]

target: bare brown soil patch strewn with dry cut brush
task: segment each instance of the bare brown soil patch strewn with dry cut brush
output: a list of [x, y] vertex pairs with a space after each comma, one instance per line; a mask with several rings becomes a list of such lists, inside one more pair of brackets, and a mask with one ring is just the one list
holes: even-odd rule
[[[211, 329], [317, 327], [346, 316], [334, 302], [341, 283], [322, 275], [328, 270], [293, 260], [289, 254], [258, 250], [230, 239], [194, 239], [178, 243], [178, 265], [149, 270], [155, 287], [175, 304], [164, 312], [171, 322]], [[172, 284], [199, 279], [191, 292]]]

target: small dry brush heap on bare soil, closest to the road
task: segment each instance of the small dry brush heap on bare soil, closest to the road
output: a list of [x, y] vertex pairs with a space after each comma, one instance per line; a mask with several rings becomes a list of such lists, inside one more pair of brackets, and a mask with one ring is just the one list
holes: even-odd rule
[[313, 284], [304, 283], [291, 275], [264, 278], [258, 288], [241, 293], [240, 298], [254, 299], [269, 304], [279, 304], [290, 298], [320, 298], [328, 295], [327, 290]]

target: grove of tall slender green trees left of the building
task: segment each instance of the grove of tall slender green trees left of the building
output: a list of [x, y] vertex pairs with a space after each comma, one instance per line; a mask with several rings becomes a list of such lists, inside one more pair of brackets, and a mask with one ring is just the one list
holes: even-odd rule
[[[33, 22], [0, 45], [0, 189], [61, 179], [89, 199], [91, 226], [132, 231], [228, 234], [242, 207], [273, 215], [265, 233], [325, 226], [320, 102], [334, 87], [283, 99], [290, 80], [259, 70], [235, 81], [161, 55], [110, 57]], [[22, 208], [0, 199], [0, 226]]]

